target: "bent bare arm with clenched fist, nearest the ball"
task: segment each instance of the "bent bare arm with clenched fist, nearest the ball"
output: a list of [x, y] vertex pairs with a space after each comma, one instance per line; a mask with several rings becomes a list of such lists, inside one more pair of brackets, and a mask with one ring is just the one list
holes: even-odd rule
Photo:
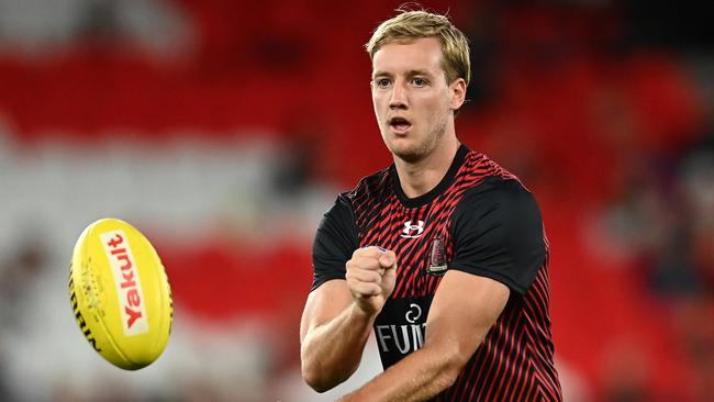
[[308, 297], [300, 324], [302, 377], [317, 392], [352, 376], [375, 317], [394, 288], [397, 257], [377, 247], [357, 249], [346, 280], [331, 280]]

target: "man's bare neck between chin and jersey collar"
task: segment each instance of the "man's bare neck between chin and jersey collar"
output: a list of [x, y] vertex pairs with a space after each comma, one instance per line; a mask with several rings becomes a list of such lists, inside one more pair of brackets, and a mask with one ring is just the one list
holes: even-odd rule
[[459, 148], [459, 142], [456, 136], [447, 136], [442, 141], [444, 143], [416, 163], [406, 163], [394, 157], [394, 167], [406, 197], [416, 198], [429, 192], [446, 176]]

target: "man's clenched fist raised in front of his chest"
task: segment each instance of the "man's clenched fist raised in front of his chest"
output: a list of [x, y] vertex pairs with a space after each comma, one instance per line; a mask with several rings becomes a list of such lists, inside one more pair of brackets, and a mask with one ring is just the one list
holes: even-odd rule
[[347, 287], [357, 308], [368, 316], [379, 314], [394, 290], [397, 256], [379, 247], [358, 248], [346, 265]]

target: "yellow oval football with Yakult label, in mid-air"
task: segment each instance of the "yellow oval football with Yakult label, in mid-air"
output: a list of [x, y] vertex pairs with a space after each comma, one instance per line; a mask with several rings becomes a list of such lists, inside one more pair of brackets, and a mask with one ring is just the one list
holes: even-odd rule
[[126, 370], [154, 362], [174, 316], [168, 278], [154, 246], [132, 225], [102, 219], [77, 239], [69, 300], [87, 342]]

